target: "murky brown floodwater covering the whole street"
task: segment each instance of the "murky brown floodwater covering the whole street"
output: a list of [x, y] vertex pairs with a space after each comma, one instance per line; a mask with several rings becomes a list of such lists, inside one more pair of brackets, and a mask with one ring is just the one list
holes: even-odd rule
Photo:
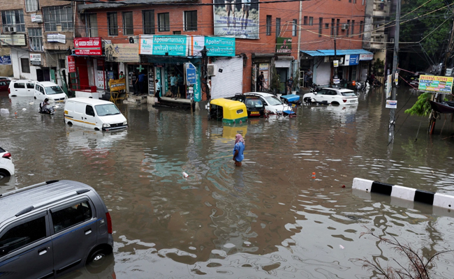
[[[360, 237], [367, 229], [425, 256], [454, 249], [454, 213], [351, 189], [360, 177], [454, 195], [453, 123], [442, 116], [427, 135], [426, 118], [404, 114], [416, 98], [400, 89], [388, 145], [383, 89], [360, 93], [357, 106], [302, 106], [293, 119], [235, 127], [206, 112], [121, 105], [129, 129], [112, 133], [65, 126], [63, 105], [41, 115], [38, 101], [3, 93], [0, 146], [16, 174], [0, 191], [73, 179], [103, 197], [114, 253], [67, 278], [371, 278], [353, 259], [407, 262]], [[232, 161], [236, 133], [242, 167]], [[441, 255], [434, 278], [453, 278], [451, 262]]]

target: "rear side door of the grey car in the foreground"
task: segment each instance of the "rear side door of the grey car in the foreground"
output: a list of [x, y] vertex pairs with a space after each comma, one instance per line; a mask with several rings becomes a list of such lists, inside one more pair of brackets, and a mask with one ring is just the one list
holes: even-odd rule
[[88, 197], [49, 209], [51, 217], [54, 269], [57, 276], [84, 266], [96, 244], [96, 212]]

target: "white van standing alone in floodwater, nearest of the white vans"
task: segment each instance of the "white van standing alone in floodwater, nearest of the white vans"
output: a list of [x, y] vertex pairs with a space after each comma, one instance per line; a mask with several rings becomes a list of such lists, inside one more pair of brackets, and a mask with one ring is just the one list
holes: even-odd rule
[[66, 100], [65, 123], [94, 130], [128, 128], [128, 121], [114, 103], [92, 98], [70, 98]]

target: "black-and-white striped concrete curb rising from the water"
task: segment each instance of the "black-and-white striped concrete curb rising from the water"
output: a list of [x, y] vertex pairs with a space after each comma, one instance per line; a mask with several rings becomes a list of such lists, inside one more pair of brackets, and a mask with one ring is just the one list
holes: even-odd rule
[[417, 190], [404, 186], [382, 183], [367, 179], [353, 179], [353, 189], [363, 190], [370, 193], [379, 193], [400, 199], [407, 199], [413, 202], [423, 202], [433, 206], [439, 206], [444, 209], [454, 207], [454, 196], [429, 192], [425, 190]]

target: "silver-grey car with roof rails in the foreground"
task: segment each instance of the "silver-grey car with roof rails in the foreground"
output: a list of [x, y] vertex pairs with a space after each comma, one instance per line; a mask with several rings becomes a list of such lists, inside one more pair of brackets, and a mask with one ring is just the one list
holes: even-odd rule
[[94, 188], [47, 181], [0, 195], [0, 278], [57, 278], [112, 252], [112, 221]]

